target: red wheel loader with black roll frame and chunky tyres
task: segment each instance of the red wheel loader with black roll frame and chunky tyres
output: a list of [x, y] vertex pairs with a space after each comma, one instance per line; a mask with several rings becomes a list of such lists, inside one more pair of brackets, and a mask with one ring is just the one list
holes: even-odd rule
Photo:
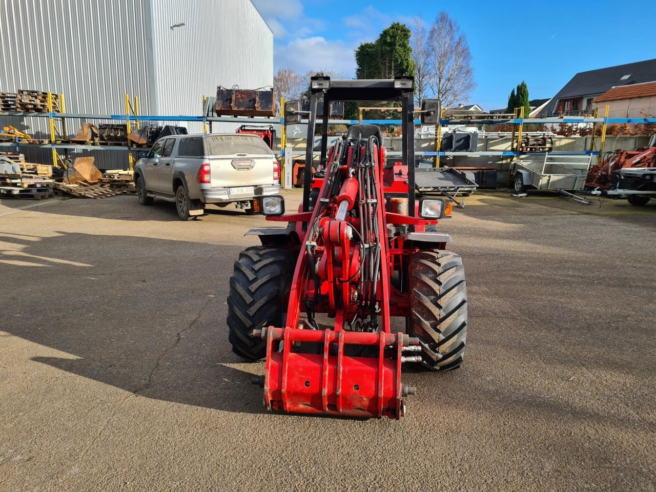
[[[310, 111], [288, 102], [285, 121], [339, 101], [400, 101], [403, 157], [386, 157], [379, 127], [353, 125], [327, 148], [317, 171], [305, 167], [297, 213], [283, 197], [262, 197], [260, 213], [286, 226], [255, 228], [262, 245], [239, 254], [230, 279], [229, 339], [248, 360], [265, 358], [264, 405], [273, 411], [400, 419], [415, 388], [401, 382], [409, 363], [428, 371], [460, 367], [467, 294], [459, 255], [438, 232], [450, 203], [415, 192], [413, 79], [331, 81], [312, 77]], [[422, 121], [435, 124], [434, 100]], [[306, 162], [314, 157], [308, 144]], [[390, 318], [405, 318], [393, 333]]]

